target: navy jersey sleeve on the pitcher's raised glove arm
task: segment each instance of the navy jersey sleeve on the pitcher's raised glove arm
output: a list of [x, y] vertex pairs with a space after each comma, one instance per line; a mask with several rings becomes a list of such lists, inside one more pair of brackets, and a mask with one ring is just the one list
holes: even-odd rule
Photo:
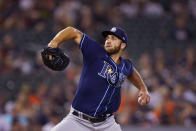
[[90, 38], [86, 34], [83, 34], [79, 48], [81, 49], [85, 60], [92, 60], [105, 52], [100, 43]]

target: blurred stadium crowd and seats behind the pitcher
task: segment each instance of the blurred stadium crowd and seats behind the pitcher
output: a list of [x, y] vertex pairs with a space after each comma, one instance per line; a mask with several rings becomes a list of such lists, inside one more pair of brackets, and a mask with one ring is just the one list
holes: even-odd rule
[[125, 28], [124, 56], [151, 93], [146, 106], [125, 82], [116, 113], [123, 130], [181, 131], [196, 126], [196, 0], [0, 0], [0, 131], [49, 131], [69, 112], [82, 56], [72, 42], [63, 72], [45, 68], [40, 50], [67, 26], [104, 42]]

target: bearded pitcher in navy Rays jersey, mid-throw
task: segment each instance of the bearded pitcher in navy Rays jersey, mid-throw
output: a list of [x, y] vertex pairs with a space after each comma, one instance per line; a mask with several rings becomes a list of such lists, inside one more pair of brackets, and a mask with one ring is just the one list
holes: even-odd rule
[[[104, 46], [87, 34], [67, 27], [48, 44], [48, 48], [58, 49], [62, 42], [74, 40], [83, 55], [82, 74], [70, 113], [52, 131], [121, 131], [113, 113], [119, 108], [121, 85], [126, 78], [139, 89], [139, 104], [149, 103], [150, 96], [139, 73], [130, 60], [121, 57], [128, 46], [126, 32], [113, 27], [102, 35]], [[64, 61], [55, 60], [53, 68], [61, 63], [67, 65]]]

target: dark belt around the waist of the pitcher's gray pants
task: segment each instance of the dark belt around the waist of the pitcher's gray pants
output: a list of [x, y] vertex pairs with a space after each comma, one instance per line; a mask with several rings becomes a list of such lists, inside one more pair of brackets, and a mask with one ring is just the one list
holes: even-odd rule
[[88, 116], [86, 114], [83, 113], [79, 113], [78, 111], [74, 110], [72, 112], [73, 115], [78, 116], [82, 119], [88, 120], [92, 123], [98, 123], [98, 122], [103, 122], [105, 121], [107, 118], [109, 118], [110, 116], [112, 116], [113, 114], [108, 114], [108, 115], [104, 115], [104, 116], [98, 116], [98, 117], [92, 117], [92, 116]]

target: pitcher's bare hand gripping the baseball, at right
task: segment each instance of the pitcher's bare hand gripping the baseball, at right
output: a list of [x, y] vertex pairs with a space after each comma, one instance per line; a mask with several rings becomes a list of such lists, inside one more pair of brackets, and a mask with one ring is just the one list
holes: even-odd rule
[[140, 105], [145, 105], [145, 104], [148, 104], [149, 102], [150, 102], [150, 95], [148, 91], [140, 90], [139, 95], [138, 95], [138, 103]]

